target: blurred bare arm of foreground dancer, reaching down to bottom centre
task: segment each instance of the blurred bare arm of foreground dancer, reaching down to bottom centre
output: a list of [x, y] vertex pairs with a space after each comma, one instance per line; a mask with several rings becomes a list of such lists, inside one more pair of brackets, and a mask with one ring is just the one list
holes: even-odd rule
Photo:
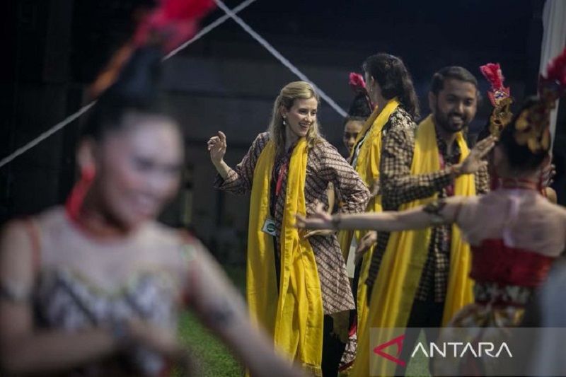
[[251, 324], [241, 294], [204, 248], [195, 250], [190, 260], [187, 303], [252, 376], [302, 376], [290, 361], [275, 354], [273, 342]]

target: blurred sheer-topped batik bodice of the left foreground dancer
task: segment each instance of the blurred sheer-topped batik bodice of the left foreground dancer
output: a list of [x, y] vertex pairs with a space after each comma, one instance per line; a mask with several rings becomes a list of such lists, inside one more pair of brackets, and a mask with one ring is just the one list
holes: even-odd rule
[[[97, 243], [59, 207], [29, 223], [39, 261], [33, 307], [40, 328], [76, 332], [139, 318], [177, 332], [188, 266], [200, 247], [196, 240], [152, 223], [124, 243]], [[134, 345], [71, 375], [161, 376], [169, 367], [161, 355]]]

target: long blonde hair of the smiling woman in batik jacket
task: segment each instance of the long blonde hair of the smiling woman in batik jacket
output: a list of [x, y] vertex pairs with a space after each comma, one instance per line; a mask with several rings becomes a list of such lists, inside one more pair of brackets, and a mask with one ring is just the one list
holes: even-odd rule
[[[295, 100], [308, 100], [309, 98], [316, 98], [319, 102], [318, 94], [314, 91], [313, 86], [305, 81], [293, 81], [288, 83], [281, 89], [277, 99], [273, 105], [273, 114], [271, 117], [270, 127], [267, 132], [270, 134], [270, 139], [275, 142], [275, 149], [277, 155], [284, 153], [285, 148], [285, 127], [283, 124], [283, 115], [281, 114], [281, 107], [287, 110], [291, 109]], [[306, 141], [308, 148], [311, 148], [318, 140], [320, 140], [320, 132], [318, 130], [318, 118], [306, 132]]]

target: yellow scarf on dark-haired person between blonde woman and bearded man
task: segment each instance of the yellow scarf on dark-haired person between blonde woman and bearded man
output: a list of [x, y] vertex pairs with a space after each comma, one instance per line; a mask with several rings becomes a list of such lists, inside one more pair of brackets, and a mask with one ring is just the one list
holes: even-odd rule
[[[379, 163], [381, 161], [381, 135], [383, 127], [388, 122], [389, 117], [395, 110], [397, 110], [399, 102], [397, 98], [390, 100], [383, 110], [376, 108], [374, 112], [371, 113], [369, 118], [364, 123], [362, 132], [358, 134], [356, 145], [364, 137], [366, 132], [368, 132], [365, 138], [364, 144], [359, 149], [358, 158], [356, 166], [354, 169], [359, 174], [360, 178], [366, 185], [371, 189], [374, 182], [379, 182]], [[371, 129], [370, 129], [371, 127]], [[369, 131], [368, 131], [369, 129]], [[353, 150], [352, 150], [353, 154]], [[352, 156], [350, 156], [352, 158]], [[366, 212], [381, 212], [381, 195], [371, 198], [369, 201]], [[348, 252], [350, 251], [350, 244], [352, 243], [352, 237], [355, 237], [358, 241], [362, 238], [366, 231], [341, 231], [338, 234], [338, 240], [340, 241], [340, 248], [342, 248], [342, 254], [344, 255], [344, 260], [348, 260]], [[358, 334], [364, 327], [366, 323], [368, 306], [367, 306], [367, 287], [365, 284], [367, 274], [369, 272], [369, 265], [371, 264], [371, 255], [374, 253], [374, 248], [372, 247], [364, 255], [362, 259], [362, 267], [359, 272], [359, 283], [357, 291], [357, 328]]]

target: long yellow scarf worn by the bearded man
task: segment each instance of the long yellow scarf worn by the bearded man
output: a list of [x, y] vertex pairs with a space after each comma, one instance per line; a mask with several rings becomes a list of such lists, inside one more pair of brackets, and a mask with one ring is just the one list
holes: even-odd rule
[[[456, 142], [461, 149], [461, 161], [469, 150], [461, 132]], [[432, 173], [440, 169], [436, 130], [432, 116], [419, 124], [412, 158], [411, 174]], [[456, 179], [456, 195], [475, 195], [473, 175]], [[434, 197], [403, 204], [400, 210], [411, 209], [431, 202]], [[418, 284], [427, 259], [432, 228], [420, 231], [391, 233], [383, 255], [379, 274], [371, 292], [371, 305], [366, 328], [358, 344], [358, 357], [352, 376], [392, 376], [396, 364], [373, 354], [371, 348], [391, 340], [392, 331], [405, 328], [415, 299]], [[450, 272], [442, 324], [445, 325], [463, 306], [473, 302], [473, 281], [469, 277], [471, 266], [470, 246], [463, 241], [461, 232], [452, 227]], [[379, 329], [370, 336], [371, 328]], [[408, 360], [407, 360], [408, 361]]]

